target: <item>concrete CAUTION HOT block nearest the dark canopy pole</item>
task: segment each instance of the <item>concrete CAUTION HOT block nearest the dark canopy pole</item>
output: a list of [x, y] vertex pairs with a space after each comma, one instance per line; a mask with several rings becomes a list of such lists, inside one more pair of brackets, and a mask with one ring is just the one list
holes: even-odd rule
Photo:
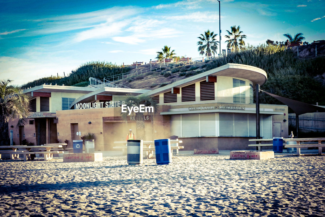
[[231, 151], [230, 159], [263, 160], [274, 158], [272, 151]]

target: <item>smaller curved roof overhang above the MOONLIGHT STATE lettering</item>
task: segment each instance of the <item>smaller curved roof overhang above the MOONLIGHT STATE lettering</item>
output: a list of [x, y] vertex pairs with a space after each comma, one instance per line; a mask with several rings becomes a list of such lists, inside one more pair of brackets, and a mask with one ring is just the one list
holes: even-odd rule
[[112, 87], [104, 87], [93, 91], [91, 93], [85, 94], [72, 102], [70, 108], [72, 108], [77, 103], [88, 103], [96, 100], [96, 95], [139, 95], [147, 93], [149, 90], [142, 89], [129, 89], [129, 88], [112, 88]]

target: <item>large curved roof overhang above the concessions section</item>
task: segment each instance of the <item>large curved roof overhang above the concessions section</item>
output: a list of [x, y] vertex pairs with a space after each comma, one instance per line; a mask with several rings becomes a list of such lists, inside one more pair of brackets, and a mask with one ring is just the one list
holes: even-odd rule
[[171, 89], [173, 87], [187, 86], [197, 81], [205, 80], [206, 76], [208, 75], [247, 79], [253, 82], [254, 87], [255, 84], [259, 84], [260, 86], [263, 85], [267, 80], [266, 72], [263, 69], [251, 65], [228, 63], [226, 65], [222, 65], [220, 67], [200, 73], [198, 75], [194, 75], [192, 77], [179, 80], [161, 88], [149, 91], [147, 94], [156, 95], [164, 93], [166, 92], [166, 90]]

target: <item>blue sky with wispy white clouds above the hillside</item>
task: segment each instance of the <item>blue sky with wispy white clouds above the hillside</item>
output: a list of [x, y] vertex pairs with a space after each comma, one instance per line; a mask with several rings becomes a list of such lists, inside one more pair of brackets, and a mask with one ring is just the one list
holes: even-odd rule
[[[167, 45], [177, 56], [200, 57], [197, 42], [208, 29], [219, 40], [217, 0], [0, 0], [0, 80], [21, 86], [80, 65], [125, 65], [156, 60]], [[325, 0], [220, 0], [221, 49], [226, 30], [240, 26], [246, 44], [283, 34], [325, 39]], [[63, 73], [64, 72], [64, 73]]]

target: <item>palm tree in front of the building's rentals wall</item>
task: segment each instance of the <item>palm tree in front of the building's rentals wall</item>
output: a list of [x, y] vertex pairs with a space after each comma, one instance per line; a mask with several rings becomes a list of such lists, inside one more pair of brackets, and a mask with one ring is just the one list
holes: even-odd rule
[[[140, 96], [127, 96], [124, 99], [125, 105], [131, 108], [132, 106], [137, 106], [140, 107], [140, 105], [144, 106], [152, 106], [153, 107], [153, 113], [150, 112], [147, 115], [151, 115], [151, 122], [153, 121], [153, 115], [156, 114], [159, 110], [159, 105], [152, 100], [150, 96], [147, 95], [140, 95]], [[121, 116], [124, 120], [127, 119], [128, 112], [121, 112]], [[142, 112], [134, 112], [132, 110], [132, 113], [130, 114], [131, 116], [135, 116], [136, 119], [136, 133], [137, 139], [145, 139], [145, 123], [144, 123], [144, 116], [146, 115], [145, 113]]]

